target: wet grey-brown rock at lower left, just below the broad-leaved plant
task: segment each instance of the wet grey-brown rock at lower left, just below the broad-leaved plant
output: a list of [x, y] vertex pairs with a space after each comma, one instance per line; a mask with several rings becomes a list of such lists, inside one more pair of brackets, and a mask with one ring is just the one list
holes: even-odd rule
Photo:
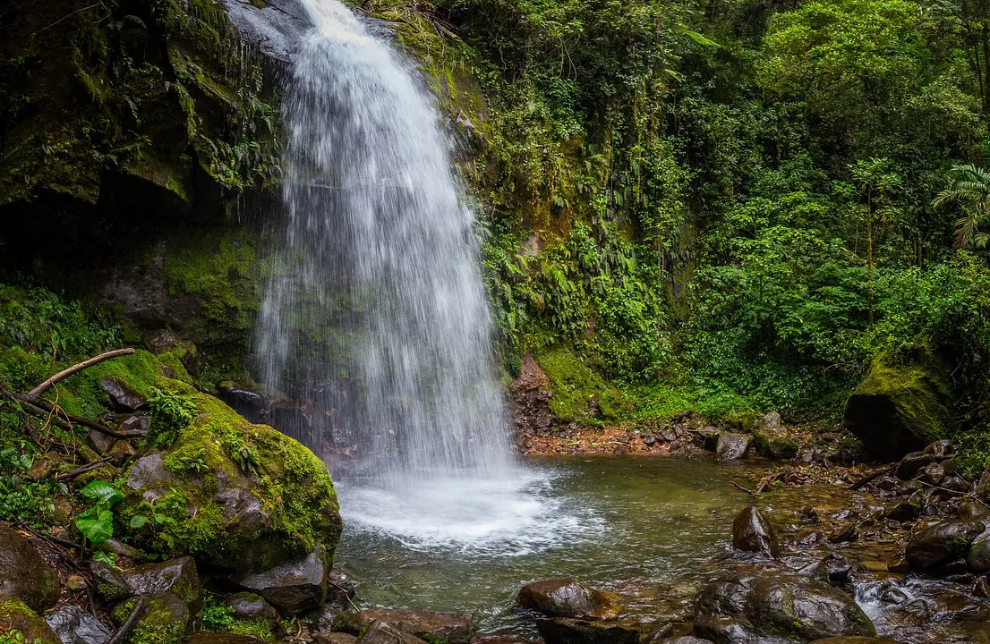
[[100, 595], [109, 600], [171, 593], [198, 607], [203, 597], [196, 562], [192, 557], [179, 557], [128, 570], [94, 561], [90, 570]]

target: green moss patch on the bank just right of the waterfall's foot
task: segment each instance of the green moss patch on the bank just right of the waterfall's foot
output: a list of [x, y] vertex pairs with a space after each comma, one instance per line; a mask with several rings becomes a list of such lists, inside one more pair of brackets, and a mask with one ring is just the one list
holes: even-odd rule
[[[548, 379], [550, 411], [562, 420], [617, 421], [634, 413], [632, 400], [606, 383], [566, 347], [555, 347], [537, 355]], [[597, 410], [593, 414], [591, 410]]]

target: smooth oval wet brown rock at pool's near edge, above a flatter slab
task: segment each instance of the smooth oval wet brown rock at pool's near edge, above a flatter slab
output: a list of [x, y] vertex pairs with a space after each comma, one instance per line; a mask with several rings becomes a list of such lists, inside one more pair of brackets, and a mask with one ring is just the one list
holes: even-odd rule
[[614, 619], [622, 609], [615, 595], [566, 578], [531, 582], [520, 590], [516, 600], [524, 608], [551, 617]]

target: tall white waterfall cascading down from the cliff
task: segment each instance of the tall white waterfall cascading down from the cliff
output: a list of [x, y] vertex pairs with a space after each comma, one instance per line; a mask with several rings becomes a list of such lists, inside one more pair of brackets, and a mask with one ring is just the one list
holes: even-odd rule
[[[416, 70], [338, 0], [301, 0], [284, 101], [287, 222], [257, 326], [265, 384], [316, 399], [290, 428], [403, 486], [514, 467], [449, 141]], [[302, 392], [302, 393], [300, 393]], [[312, 418], [310, 418], [312, 419]]]

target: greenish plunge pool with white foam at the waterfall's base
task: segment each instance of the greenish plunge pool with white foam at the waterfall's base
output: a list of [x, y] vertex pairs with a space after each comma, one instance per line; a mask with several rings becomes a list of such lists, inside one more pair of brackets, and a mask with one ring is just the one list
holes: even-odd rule
[[442, 479], [400, 494], [350, 481], [339, 487], [338, 567], [364, 606], [474, 612], [484, 631], [528, 631], [513, 599], [545, 577], [619, 591], [633, 611], [642, 597], [655, 610], [659, 584], [697, 578], [728, 551], [733, 516], [748, 503], [729, 481], [743, 472], [710, 461], [575, 457], [532, 461], [515, 481]]

